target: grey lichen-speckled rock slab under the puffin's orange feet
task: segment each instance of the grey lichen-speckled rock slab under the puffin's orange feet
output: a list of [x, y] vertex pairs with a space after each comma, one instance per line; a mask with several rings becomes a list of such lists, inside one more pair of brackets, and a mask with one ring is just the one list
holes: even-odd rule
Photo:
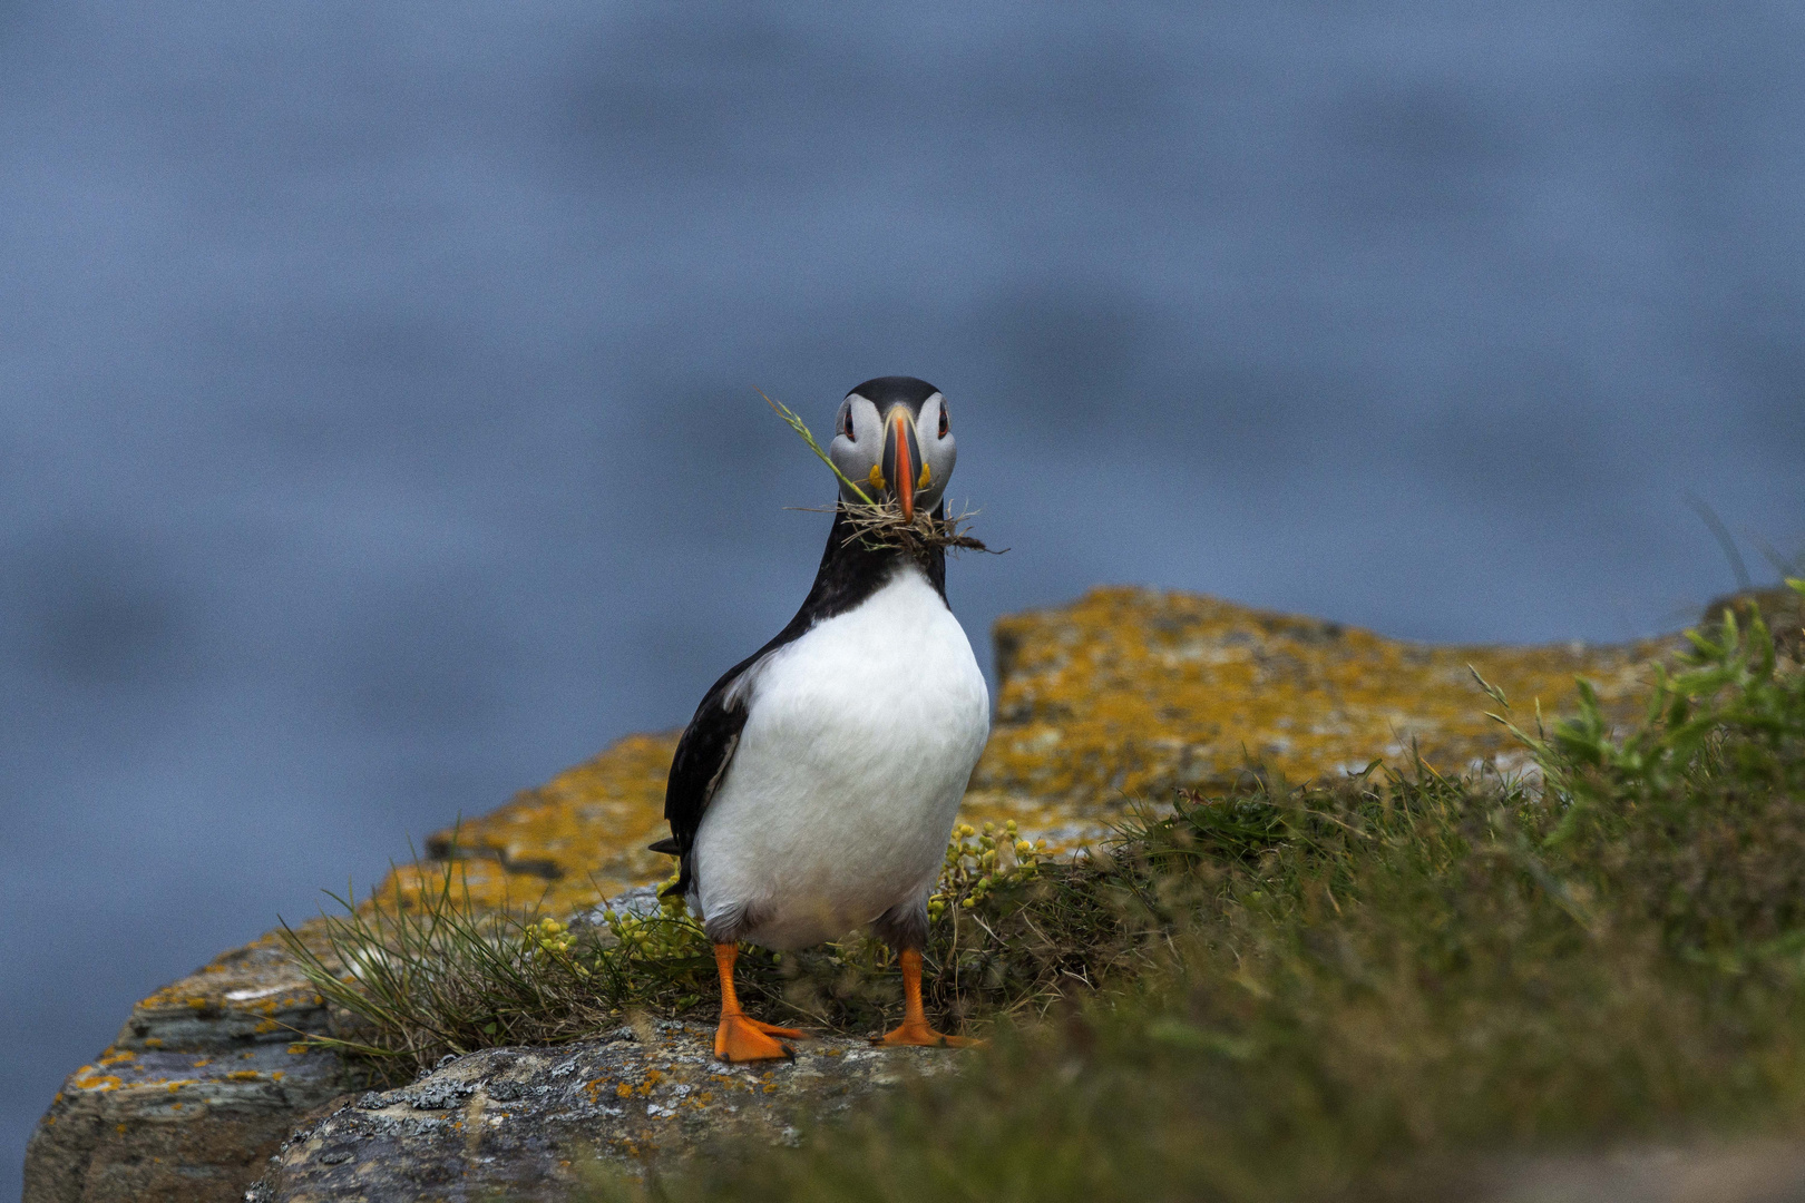
[[951, 1050], [847, 1037], [796, 1042], [796, 1061], [729, 1066], [711, 1024], [643, 1023], [561, 1048], [491, 1048], [301, 1127], [249, 1190], [256, 1203], [565, 1198], [572, 1167], [680, 1158], [702, 1136], [794, 1140], [902, 1073], [940, 1073]]

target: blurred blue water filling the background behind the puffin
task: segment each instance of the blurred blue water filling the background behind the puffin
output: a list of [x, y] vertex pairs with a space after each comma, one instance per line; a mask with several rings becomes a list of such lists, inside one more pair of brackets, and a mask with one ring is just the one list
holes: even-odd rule
[[[1762, 4], [0, 4], [0, 1156], [130, 1001], [680, 723], [940, 384], [1099, 581], [1623, 638], [1805, 546]], [[986, 640], [987, 649], [987, 640]], [[987, 657], [987, 653], [986, 653]]]

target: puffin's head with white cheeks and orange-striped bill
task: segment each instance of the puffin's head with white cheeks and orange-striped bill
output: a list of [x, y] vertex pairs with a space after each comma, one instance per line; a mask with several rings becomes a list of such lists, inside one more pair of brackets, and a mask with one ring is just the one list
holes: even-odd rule
[[[912, 521], [917, 509], [933, 510], [940, 503], [958, 458], [946, 397], [912, 375], [881, 375], [847, 393], [827, 453], [874, 501], [895, 498], [904, 521]], [[839, 498], [859, 500], [845, 483]]]

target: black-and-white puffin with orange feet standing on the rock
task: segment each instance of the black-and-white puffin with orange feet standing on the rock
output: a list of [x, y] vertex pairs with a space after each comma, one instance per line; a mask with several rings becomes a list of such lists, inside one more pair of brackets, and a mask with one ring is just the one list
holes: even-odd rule
[[848, 521], [861, 482], [946, 516], [955, 445], [946, 397], [906, 375], [866, 381], [834, 418], [834, 525], [814, 586], [776, 637], [702, 696], [664, 790], [684, 898], [720, 970], [715, 1055], [792, 1057], [733, 990], [740, 941], [791, 950], [870, 925], [902, 967], [902, 1023], [881, 1044], [962, 1046], [921, 1003], [928, 895], [989, 738], [989, 691], [946, 601], [946, 552], [874, 545]]

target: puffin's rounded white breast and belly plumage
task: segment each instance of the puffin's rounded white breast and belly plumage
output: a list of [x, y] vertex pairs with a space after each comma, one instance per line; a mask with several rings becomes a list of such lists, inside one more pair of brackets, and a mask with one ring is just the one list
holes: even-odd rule
[[836, 940], [928, 893], [989, 734], [971, 642], [921, 570], [774, 651], [695, 842], [702, 916]]

